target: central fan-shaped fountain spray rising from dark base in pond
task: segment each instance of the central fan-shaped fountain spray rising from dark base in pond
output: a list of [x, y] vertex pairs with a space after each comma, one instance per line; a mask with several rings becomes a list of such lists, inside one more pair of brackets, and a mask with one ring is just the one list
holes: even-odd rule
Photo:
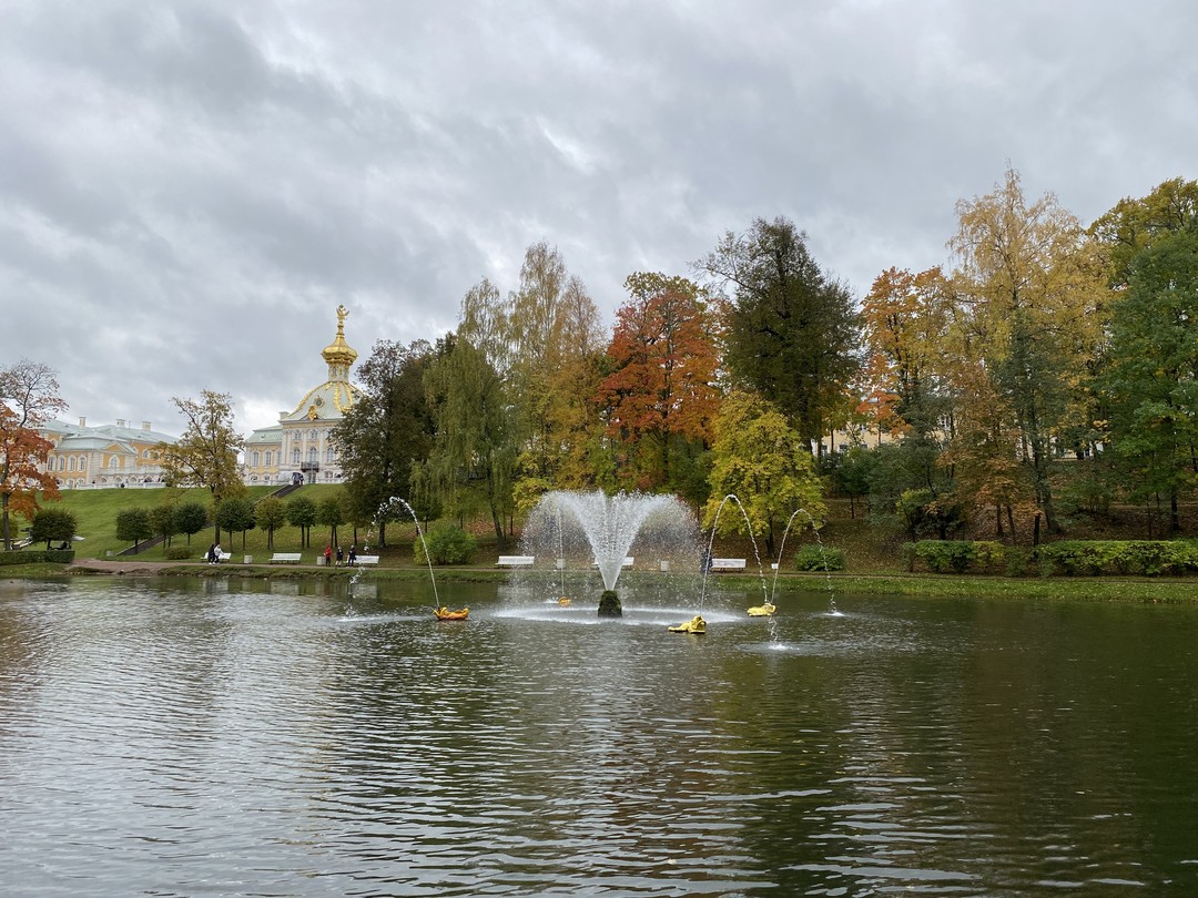
[[697, 570], [697, 534], [694, 514], [673, 496], [553, 490], [530, 514], [521, 545], [526, 556], [555, 559], [562, 591], [568, 568], [598, 570], [603, 580], [599, 617], [618, 618], [623, 614], [616, 591], [621, 574], [634, 565], [665, 572]]

